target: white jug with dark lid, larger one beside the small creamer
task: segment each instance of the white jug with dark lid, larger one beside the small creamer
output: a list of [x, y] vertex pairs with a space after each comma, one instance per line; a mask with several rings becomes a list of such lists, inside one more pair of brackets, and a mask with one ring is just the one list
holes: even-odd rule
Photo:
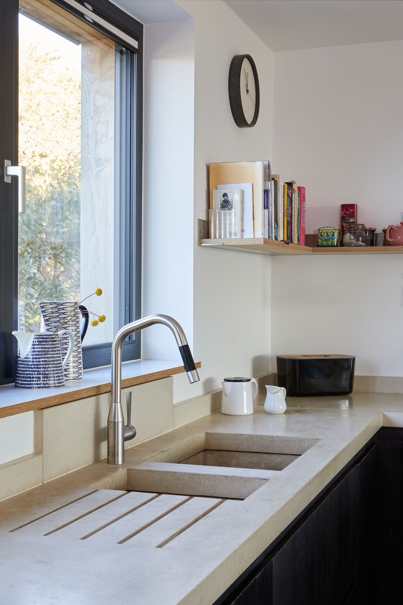
[[247, 416], [254, 413], [253, 402], [256, 399], [258, 386], [254, 378], [224, 378], [221, 414], [230, 416]]

